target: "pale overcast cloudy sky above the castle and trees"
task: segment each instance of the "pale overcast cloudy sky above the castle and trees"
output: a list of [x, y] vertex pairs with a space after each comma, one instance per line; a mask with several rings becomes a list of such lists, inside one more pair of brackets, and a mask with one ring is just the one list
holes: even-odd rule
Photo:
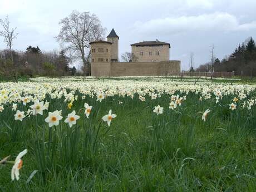
[[[215, 56], [230, 55], [249, 36], [256, 39], [255, 0], [0, 0], [0, 17], [7, 14], [19, 33], [15, 50], [29, 45], [43, 51], [58, 50], [55, 40], [60, 19], [73, 10], [95, 13], [107, 28], [115, 29], [119, 54], [131, 51], [130, 44], [159, 41], [171, 44], [170, 60], [181, 60], [188, 69], [190, 52], [195, 66]], [[0, 49], [6, 48], [0, 37]]]

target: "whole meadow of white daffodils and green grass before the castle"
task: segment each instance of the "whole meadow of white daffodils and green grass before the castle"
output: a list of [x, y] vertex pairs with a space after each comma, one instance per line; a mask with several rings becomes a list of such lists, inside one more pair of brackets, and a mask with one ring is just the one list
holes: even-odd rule
[[255, 191], [256, 85], [215, 81], [0, 83], [0, 191]]

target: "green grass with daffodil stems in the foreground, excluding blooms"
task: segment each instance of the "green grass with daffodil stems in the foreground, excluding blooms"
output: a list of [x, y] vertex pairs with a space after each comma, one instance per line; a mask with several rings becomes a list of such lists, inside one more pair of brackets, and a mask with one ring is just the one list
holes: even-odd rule
[[[11, 181], [11, 165], [0, 166], [0, 191], [255, 191], [255, 109], [229, 110], [233, 96], [216, 105], [189, 93], [170, 110], [169, 95], [146, 96], [145, 102], [137, 95], [114, 96], [100, 103], [77, 94], [70, 110], [63, 98], [46, 99], [48, 111], [62, 109], [63, 120], [84, 102], [93, 106], [89, 119], [80, 111], [71, 128], [63, 121], [49, 128], [46, 111], [14, 121], [6, 105], [0, 113], [0, 157], [28, 153], [18, 181]], [[157, 116], [152, 110], [158, 104], [164, 114]], [[198, 112], [208, 108], [204, 122]], [[108, 127], [101, 117], [110, 109], [117, 117]], [[33, 170], [38, 172], [26, 184]]]

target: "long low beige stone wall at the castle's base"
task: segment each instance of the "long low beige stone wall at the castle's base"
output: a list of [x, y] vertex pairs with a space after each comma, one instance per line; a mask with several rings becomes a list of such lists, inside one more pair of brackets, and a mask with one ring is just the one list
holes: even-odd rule
[[180, 72], [180, 61], [92, 63], [92, 76], [162, 76]]

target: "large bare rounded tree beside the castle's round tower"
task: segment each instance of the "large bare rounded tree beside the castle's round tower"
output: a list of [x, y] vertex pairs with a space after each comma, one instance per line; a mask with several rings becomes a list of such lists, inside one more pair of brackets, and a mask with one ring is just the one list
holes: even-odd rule
[[89, 12], [73, 11], [70, 16], [61, 19], [61, 30], [56, 37], [73, 60], [81, 59], [86, 67], [90, 58], [90, 42], [103, 40], [106, 29], [100, 19]]

